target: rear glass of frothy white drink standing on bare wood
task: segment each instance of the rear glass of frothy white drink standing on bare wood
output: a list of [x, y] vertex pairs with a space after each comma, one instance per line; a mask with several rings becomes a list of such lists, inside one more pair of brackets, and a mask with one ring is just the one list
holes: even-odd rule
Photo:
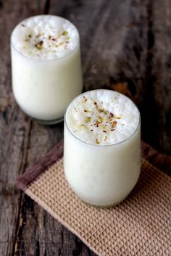
[[43, 123], [62, 120], [82, 91], [78, 30], [52, 15], [30, 17], [11, 37], [12, 88], [22, 110]]

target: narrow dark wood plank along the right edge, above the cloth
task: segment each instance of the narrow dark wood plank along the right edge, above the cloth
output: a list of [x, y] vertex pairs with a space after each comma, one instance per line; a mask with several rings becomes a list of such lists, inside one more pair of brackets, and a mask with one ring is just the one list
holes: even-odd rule
[[[151, 33], [154, 46], [151, 49], [151, 77], [157, 115], [154, 130], [159, 149], [171, 154], [171, 2], [151, 2]], [[152, 133], [153, 131], [151, 131]]]

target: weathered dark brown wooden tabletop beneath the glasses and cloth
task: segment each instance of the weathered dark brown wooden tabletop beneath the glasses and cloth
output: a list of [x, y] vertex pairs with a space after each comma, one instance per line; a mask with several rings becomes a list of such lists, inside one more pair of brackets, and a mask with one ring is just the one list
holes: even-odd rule
[[171, 153], [170, 0], [0, 1], [0, 255], [92, 256], [82, 241], [14, 182], [63, 137], [14, 102], [9, 37], [25, 17], [60, 15], [80, 31], [84, 89], [112, 88], [141, 111], [142, 139]]

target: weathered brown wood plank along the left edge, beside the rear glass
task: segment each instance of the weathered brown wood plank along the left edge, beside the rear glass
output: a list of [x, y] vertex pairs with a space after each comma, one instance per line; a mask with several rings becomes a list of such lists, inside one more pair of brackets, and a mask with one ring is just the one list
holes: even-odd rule
[[25, 170], [30, 120], [14, 103], [11, 89], [9, 38], [17, 22], [41, 11], [41, 1], [0, 3], [0, 255], [14, 255], [21, 193], [17, 176]]

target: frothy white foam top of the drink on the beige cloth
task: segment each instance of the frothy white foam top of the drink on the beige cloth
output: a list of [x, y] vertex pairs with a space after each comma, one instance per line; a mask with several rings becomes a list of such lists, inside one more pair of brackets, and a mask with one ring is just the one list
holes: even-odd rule
[[138, 128], [139, 112], [128, 97], [109, 90], [81, 94], [67, 109], [66, 123], [81, 141], [95, 145], [117, 144]]

